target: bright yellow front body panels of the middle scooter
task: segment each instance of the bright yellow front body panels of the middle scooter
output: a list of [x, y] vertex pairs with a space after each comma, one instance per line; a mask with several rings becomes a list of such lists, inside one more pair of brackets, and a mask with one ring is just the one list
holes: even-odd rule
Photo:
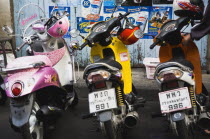
[[108, 46], [101, 46], [95, 44], [91, 48], [90, 61], [94, 63], [94, 57], [104, 58], [103, 50], [110, 48], [112, 49], [115, 57], [115, 61], [122, 65], [122, 81], [124, 83], [124, 94], [129, 94], [132, 91], [132, 76], [131, 76], [131, 65], [130, 65], [130, 54], [127, 47], [117, 37], [113, 37], [112, 43]]

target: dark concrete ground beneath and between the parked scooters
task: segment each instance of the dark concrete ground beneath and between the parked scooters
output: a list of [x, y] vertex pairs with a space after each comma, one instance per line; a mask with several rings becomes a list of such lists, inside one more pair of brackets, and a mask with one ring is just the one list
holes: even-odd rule
[[[82, 72], [81, 72], [82, 73]], [[145, 69], [133, 69], [133, 83], [140, 96], [147, 99], [144, 108], [139, 109], [140, 122], [134, 129], [129, 130], [126, 139], [178, 139], [168, 130], [168, 122], [165, 118], [151, 118], [152, 112], [159, 111], [158, 86], [155, 80], [146, 79]], [[210, 75], [203, 74], [203, 82], [210, 92]], [[82, 79], [76, 85], [79, 95], [79, 104], [74, 108], [64, 112], [57, 123], [56, 130], [49, 137], [50, 139], [105, 139], [100, 132], [96, 131], [95, 120], [81, 119], [81, 115], [89, 112], [87, 101], [87, 88]], [[9, 126], [8, 106], [0, 107], [0, 138], [20, 139], [20, 135], [15, 133]], [[209, 139], [201, 136], [199, 139]]]

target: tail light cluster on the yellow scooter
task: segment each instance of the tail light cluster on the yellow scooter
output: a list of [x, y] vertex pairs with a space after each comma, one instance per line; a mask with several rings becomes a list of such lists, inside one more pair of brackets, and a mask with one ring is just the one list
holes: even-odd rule
[[98, 70], [95, 72], [91, 72], [88, 77], [87, 80], [89, 83], [92, 82], [98, 82], [98, 81], [102, 81], [102, 80], [108, 80], [111, 76], [111, 73], [109, 73], [108, 71], [105, 70]]

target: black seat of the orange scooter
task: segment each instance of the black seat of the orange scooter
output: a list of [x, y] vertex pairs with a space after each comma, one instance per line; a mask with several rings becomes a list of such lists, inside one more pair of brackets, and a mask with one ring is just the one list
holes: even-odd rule
[[162, 69], [169, 68], [169, 67], [180, 67], [180, 68], [187, 67], [187, 68], [190, 68], [191, 70], [194, 69], [193, 64], [189, 62], [188, 60], [185, 60], [185, 59], [170, 60], [170, 61], [158, 64], [156, 68], [156, 73], [160, 72]]

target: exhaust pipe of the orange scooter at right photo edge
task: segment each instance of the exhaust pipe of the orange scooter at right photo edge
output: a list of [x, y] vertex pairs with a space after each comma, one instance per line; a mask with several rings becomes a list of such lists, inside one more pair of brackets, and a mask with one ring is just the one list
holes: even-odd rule
[[198, 126], [202, 129], [210, 129], [210, 115], [206, 112], [202, 113], [199, 116]]

